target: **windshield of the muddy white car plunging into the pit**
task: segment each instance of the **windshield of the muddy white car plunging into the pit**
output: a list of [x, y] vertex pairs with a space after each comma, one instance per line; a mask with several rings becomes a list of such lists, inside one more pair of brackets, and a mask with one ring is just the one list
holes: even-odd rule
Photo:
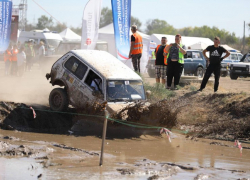
[[145, 100], [145, 91], [141, 81], [113, 80], [107, 83], [109, 102]]

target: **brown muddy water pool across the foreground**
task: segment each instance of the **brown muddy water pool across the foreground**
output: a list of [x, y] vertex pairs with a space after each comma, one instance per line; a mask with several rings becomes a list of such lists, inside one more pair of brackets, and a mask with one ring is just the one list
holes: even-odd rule
[[[170, 143], [166, 137], [141, 136], [134, 139], [108, 139], [105, 144], [104, 165], [99, 167], [99, 156], [89, 155], [81, 151], [72, 151], [55, 147], [64, 144], [88, 152], [100, 153], [101, 139], [93, 136], [75, 137], [73, 135], [51, 135], [38, 133], [23, 133], [0, 130], [2, 136], [19, 138], [18, 144], [46, 146], [50, 165], [41, 169], [36, 166], [36, 173], [30, 172], [34, 161], [30, 158], [3, 159], [0, 164], [2, 177], [11, 178], [14, 169], [25, 172], [24, 179], [34, 179], [40, 173], [43, 179], [147, 179], [158, 174], [168, 177], [169, 171], [164, 169], [166, 163], [175, 163], [179, 167], [192, 167], [194, 170], [179, 168], [170, 179], [194, 179], [203, 174], [211, 179], [250, 178], [250, 150], [243, 149], [242, 155], [233, 142], [220, 142], [224, 146], [213, 145], [211, 140], [191, 141], [182, 135], [175, 135]], [[0, 136], [1, 137], [1, 136]], [[219, 141], [217, 141], [219, 142]], [[229, 145], [226, 147], [225, 145]], [[242, 144], [249, 147], [249, 144]], [[29, 162], [32, 161], [32, 162]], [[16, 168], [22, 164], [21, 169]], [[52, 163], [53, 162], [53, 163]], [[15, 164], [10, 166], [8, 164]], [[13, 170], [14, 170], [13, 169]], [[121, 175], [117, 169], [132, 169], [132, 175]], [[25, 171], [26, 170], [26, 171]], [[243, 171], [243, 172], [241, 172]], [[25, 174], [29, 174], [28, 177]]]

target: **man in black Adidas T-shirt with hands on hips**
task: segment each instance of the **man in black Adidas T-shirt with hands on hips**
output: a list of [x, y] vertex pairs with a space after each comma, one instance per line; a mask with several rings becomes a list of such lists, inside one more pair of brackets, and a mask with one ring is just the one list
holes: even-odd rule
[[[203, 51], [203, 55], [206, 58], [207, 63], [209, 62], [209, 65], [203, 77], [201, 87], [198, 91], [202, 91], [206, 87], [207, 81], [212, 73], [214, 73], [214, 92], [218, 90], [219, 79], [220, 79], [220, 68], [221, 68], [220, 63], [224, 58], [227, 58], [230, 55], [230, 52], [228, 52], [222, 46], [219, 46], [219, 44], [220, 44], [220, 38], [216, 36], [214, 38], [214, 45], [208, 46]], [[209, 52], [210, 58], [207, 57], [206, 52]], [[226, 55], [224, 57], [221, 57], [224, 52], [226, 53]]]

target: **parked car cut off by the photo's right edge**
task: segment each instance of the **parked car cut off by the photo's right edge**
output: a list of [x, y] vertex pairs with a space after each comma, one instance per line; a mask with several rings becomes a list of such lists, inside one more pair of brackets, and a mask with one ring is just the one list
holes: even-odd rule
[[250, 52], [245, 54], [239, 63], [230, 65], [230, 78], [236, 80], [239, 76], [250, 77]]

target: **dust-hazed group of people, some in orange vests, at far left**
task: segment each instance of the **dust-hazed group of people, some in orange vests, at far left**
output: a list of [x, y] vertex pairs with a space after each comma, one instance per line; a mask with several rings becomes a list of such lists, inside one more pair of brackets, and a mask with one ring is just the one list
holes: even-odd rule
[[32, 65], [41, 64], [45, 56], [44, 42], [40, 41], [36, 47], [32, 40], [21, 45], [10, 44], [4, 52], [5, 76], [22, 76], [25, 71], [31, 71]]

